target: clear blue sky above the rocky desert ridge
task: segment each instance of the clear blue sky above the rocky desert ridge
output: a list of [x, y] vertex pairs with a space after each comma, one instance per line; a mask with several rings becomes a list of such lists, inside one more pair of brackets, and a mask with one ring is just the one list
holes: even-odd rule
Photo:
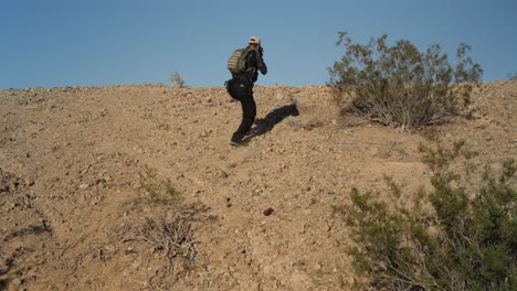
[[173, 72], [222, 86], [226, 58], [254, 34], [270, 68], [258, 84], [325, 84], [344, 30], [450, 56], [465, 42], [484, 80], [517, 72], [516, 0], [2, 0], [0, 88], [171, 84]]

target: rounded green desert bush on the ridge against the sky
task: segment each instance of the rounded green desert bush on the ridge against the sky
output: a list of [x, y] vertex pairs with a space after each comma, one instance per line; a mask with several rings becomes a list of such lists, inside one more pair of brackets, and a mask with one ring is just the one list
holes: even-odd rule
[[387, 39], [384, 34], [356, 44], [339, 32], [337, 45], [344, 45], [345, 54], [329, 73], [342, 112], [412, 130], [443, 122], [457, 112], [460, 100], [469, 101], [483, 74], [467, 56], [471, 46], [460, 44], [453, 67], [439, 44], [420, 52], [410, 41], [389, 46]]

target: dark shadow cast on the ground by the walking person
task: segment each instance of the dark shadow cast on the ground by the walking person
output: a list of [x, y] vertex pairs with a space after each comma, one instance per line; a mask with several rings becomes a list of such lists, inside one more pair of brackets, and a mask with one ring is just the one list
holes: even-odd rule
[[276, 125], [282, 122], [286, 117], [298, 116], [299, 111], [296, 104], [285, 105], [268, 112], [264, 118], [255, 119], [255, 127], [250, 130], [250, 133], [243, 139], [249, 142], [253, 138], [265, 134], [271, 131]]

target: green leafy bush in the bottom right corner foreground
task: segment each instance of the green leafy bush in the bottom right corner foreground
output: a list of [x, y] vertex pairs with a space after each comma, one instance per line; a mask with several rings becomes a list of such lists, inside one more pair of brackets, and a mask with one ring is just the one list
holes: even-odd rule
[[420, 191], [412, 202], [400, 201], [400, 187], [388, 179], [395, 205], [354, 188], [351, 205], [334, 208], [351, 227], [355, 270], [374, 289], [517, 289], [517, 191], [507, 183], [516, 163], [506, 160], [498, 179], [486, 168], [471, 192], [450, 166], [472, 157], [464, 144], [421, 147], [433, 190]]

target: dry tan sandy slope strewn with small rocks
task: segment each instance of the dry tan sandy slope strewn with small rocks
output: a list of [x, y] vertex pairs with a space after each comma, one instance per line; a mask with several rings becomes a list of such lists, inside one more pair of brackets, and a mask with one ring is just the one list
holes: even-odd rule
[[[352, 186], [384, 188], [383, 175], [408, 193], [428, 185], [425, 140], [338, 118], [324, 86], [258, 86], [255, 99], [256, 132], [232, 148], [241, 109], [222, 88], [0, 90], [0, 289], [349, 288], [331, 206]], [[444, 142], [466, 139], [478, 163], [517, 159], [517, 82], [484, 84], [469, 110], [439, 128]], [[138, 201], [146, 168], [183, 200]], [[128, 239], [146, 218], [180, 216], [191, 263]]]

